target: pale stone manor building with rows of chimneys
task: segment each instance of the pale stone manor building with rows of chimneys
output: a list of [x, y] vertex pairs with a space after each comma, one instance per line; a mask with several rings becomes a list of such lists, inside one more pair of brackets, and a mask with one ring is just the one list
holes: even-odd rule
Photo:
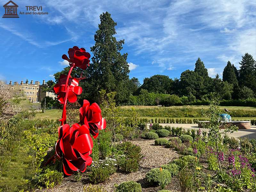
[[40, 85], [39, 81], [33, 83], [33, 80], [31, 80], [30, 84], [23, 81], [20, 84], [17, 81], [12, 84], [12, 81], [10, 81], [9, 86], [11, 86], [13, 95], [20, 93], [22, 96], [26, 96], [30, 102], [43, 102], [46, 96], [56, 98], [54, 93], [43, 91], [42, 88], [46, 86], [45, 80], [43, 80], [42, 85]]

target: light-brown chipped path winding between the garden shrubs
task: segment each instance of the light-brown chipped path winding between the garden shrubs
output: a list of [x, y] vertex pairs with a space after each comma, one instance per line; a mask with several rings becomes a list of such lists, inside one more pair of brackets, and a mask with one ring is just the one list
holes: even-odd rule
[[[168, 138], [167, 138], [168, 139]], [[167, 164], [172, 159], [178, 158], [178, 153], [169, 148], [164, 148], [163, 146], [155, 146], [154, 140], [144, 140], [136, 139], [131, 140], [133, 144], [137, 144], [141, 147], [141, 152], [145, 157], [140, 163], [140, 169], [137, 172], [124, 174], [122, 172], [114, 173], [108, 181], [100, 183], [99, 185], [104, 187], [107, 192], [114, 192], [114, 185], [120, 184], [124, 181], [136, 181], [141, 184], [142, 192], [156, 192], [159, 190], [159, 187], [148, 186], [145, 176], [147, 172], [155, 167], [160, 167], [162, 164]], [[68, 182], [69, 181], [69, 182]], [[51, 191], [51, 192], [75, 192], [83, 191], [84, 185], [89, 185], [86, 176], [83, 177], [81, 182], [74, 182], [73, 177], [67, 177], [63, 180], [62, 184], [68, 182], [62, 187], [55, 187], [53, 189], [44, 189], [41, 191]], [[167, 186], [167, 189], [172, 191], [177, 190], [176, 182], [172, 182]]]

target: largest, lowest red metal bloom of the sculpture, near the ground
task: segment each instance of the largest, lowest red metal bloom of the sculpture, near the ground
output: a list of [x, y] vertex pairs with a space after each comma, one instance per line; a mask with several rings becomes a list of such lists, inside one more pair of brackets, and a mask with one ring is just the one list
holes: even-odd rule
[[92, 138], [86, 125], [80, 126], [76, 123], [72, 127], [68, 124], [59, 127], [59, 140], [55, 149], [57, 157], [63, 161], [66, 175], [86, 170], [86, 166], [92, 163], [92, 158], [89, 156], [92, 147]]

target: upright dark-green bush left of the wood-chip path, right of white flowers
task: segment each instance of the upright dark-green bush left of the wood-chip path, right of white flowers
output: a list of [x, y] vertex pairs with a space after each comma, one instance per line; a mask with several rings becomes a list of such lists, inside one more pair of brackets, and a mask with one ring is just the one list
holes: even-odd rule
[[117, 146], [119, 154], [122, 154], [117, 159], [117, 164], [121, 170], [130, 173], [138, 171], [139, 163], [142, 159], [140, 146], [134, 145], [131, 142], [124, 142]]

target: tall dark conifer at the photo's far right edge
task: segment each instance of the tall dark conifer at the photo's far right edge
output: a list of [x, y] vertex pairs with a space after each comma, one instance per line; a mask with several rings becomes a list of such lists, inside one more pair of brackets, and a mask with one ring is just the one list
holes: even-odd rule
[[256, 94], [256, 62], [252, 55], [245, 53], [242, 56], [239, 70], [239, 85], [240, 87], [248, 87]]

